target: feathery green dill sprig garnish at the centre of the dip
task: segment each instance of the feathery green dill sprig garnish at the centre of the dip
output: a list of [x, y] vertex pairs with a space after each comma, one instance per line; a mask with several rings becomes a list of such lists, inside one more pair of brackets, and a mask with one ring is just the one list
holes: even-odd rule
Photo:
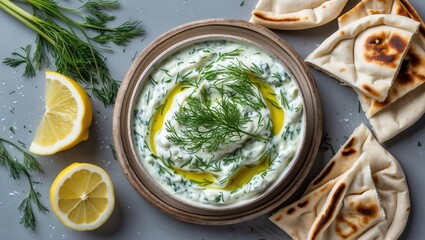
[[188, 152], [201, 149], [214, 152], [221, 144], [239, 141], [243, 135], [254, 139], [266, 140], [254, 133], [246, 132], [243, 126], [250, 121], [237, 104], [223, 97], [213, 105], [208, 93], [201, 90], [201, 97], [189, 97], [185, 107], [174, 115], [175, 120], [184, 128], [177, 131], [170, 121], [165, 123], [170, 133], [168, 140]]

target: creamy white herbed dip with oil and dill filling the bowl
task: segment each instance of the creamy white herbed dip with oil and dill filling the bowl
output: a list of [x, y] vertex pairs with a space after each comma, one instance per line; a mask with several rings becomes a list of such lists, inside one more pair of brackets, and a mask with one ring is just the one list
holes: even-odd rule
[[133, 113], [134, 143], [169, 194], [202, 206], [244, 203], [294, 158], [302, 96], [267, 52], [233, 40], [192, 43], [147, 78]]

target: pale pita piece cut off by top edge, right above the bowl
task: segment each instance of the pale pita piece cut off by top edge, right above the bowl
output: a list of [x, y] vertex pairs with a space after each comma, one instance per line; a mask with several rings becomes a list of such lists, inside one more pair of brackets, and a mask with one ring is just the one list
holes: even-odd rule
[[259, 0], [251, 22], [268, 28], [299, 30], [335, 19], [348, 0]]

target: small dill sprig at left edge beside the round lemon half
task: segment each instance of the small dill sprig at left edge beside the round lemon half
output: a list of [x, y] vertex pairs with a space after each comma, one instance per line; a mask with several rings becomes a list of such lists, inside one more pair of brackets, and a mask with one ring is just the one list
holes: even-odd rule
[[[21, 152], [24, 158], [23, 163], [20, 163], [18, 160], [12, 157], [12, 155], [6, 150], [3, 143], [9, 144], [14, 149]], [[33, 204], [35, 204], [37, 206], [38, 211], [42, 213], [47, 213], [49, 211], [43, 205], [43, 203], [41, 203], [41, 194], [35, 191], [33, 185], [34, 183], [31, 180], [30, 175], [30, 171], [43, 173], [40, 164], [32, 155], [22, 150], [13, 142], [0, 138], [0, 165], [6, 167], [9, 170], [10, 176], [15, 180], [20, 179], [22, 174], [25, 175], [25, 177], [27, 178], [28, 183], [30, 185], [30, 190], [28, 192], [28, 195], [22, 200], [21, 204], [18, 207], [19, 211], [23, 213], [21, 216], [20, 224], [23, 224], [26, 228], [31, 228], [32, 230], [35, 230], [36, 219], [33, 211]]]

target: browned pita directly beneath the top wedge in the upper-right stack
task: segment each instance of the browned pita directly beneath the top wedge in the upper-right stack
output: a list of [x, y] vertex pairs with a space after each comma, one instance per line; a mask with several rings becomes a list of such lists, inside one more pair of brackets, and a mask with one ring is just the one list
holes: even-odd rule
[[[338, 18], [338, 22], [339, 26], [342, 27], [364, 16], [391, 13], [415, 19], [421, 23], [420, 28], [425, 29], [422, 19], [411, 9], [413, 8], [407, 1], [363, 0], [352, 10]], [[362, 93], [359, 93], [359, 100], [366, 116], [370, 118], [423, 83], [425, 83], [425, 38], [420, 31], [420, 34], [413, 37], [411, 46], [385, 101], [376, 101]]]

